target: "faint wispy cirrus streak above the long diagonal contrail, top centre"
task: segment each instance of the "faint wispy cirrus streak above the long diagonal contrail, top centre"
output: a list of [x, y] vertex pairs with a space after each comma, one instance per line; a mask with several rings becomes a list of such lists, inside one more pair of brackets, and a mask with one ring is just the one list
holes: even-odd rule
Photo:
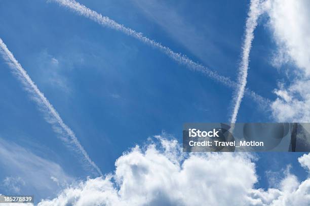
[[[217, 64], [215, 63], [215, 56], [226, 57], [217, 43], [214, 42], [215, 33], [225, 45], [235, 45], [235, 42], [226, 40], [225, 36], [222, 36], [222, 32], [212, 32], [215, 29], [213, 28], [213, 23], [218, 24], [218, 22], [212, 21], [208, 9], [205, 10], [206, 18], [203, 18], [204, 25], [202, 26], [200, 23], [196, 22], [196, 27], [195, 24], [181, 14], [178, 8], [169, 5], [171, 2], [162, 2], [158, 0], [130, 1], [139, 8], [138, 12], [141, 12], [146, 18], [150, 19], [152, 23], [163, 28], [167, 36], [173, 38], [173, 41], [180, 42], [190, 53], [198, 57], [200, 61], [210, 65], [210, 68], [215, 68]], [[167, 21], [167, 19], [169, 19], [169, 21]], [[213, 29], [210, 30], [210, 27]], [[229, 58], [226, 58], [224, 62], [229, 62], [229, 64], [235, 63], [230, 61]]]

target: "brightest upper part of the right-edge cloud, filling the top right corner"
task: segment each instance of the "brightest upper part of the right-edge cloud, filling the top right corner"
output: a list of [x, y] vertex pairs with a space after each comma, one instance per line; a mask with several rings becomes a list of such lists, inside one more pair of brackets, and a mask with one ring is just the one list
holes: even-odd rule
[[[283, 63], [294, 62], [307, 76], [310, 75], [310, 2], [307, 0], [267, 0], [265, 9], [270, 17], [275, 40]], [[289, 58], [289, 59], [288, 59]]]

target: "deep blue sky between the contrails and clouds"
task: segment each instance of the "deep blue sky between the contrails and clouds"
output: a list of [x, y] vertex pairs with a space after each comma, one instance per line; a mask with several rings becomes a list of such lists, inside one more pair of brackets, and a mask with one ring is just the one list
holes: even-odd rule
[[[223, 76], [237, 78], [248, 1], [79, 2]], [[113, 172], [124, 151], [148, 137], [165, 132], [181, 141], [185, 122], [228, 121], [233, 91], [158, 49], [52, 2], [1, 1], [0, 5], [0, 37], [104, 174]], [[266, 22], [261, 17], [255, 30], [247, 87], [274, 100], [278, 82], [290, 80], [270, 63], [277, 44]], [[23, 152], [59, 165], [57, 174], [68, 182], [95, 177], [57, 138], [3, 59], [0, 67], [2, 145], [17, 151], [22, 147]], [[270, 111], [245, 96], [238, 122], [273, 121]], [[281, 173], [287, 165], [305, 179], [307, 173], [297, 162], [300, 156], [258, 153], [257, 187], [270, 186], [266, 171]], [[0, 182], [37, 170], [12, 165], [0, 166]], [[17, 193], [53, 198], [62, 188], [48, 176], [42, 179], [49, 184], [43, 189], [31, 185], [35, 179], [24, 181]], [[0, 193], [12, 192], [10, 186], [0, 186]]]

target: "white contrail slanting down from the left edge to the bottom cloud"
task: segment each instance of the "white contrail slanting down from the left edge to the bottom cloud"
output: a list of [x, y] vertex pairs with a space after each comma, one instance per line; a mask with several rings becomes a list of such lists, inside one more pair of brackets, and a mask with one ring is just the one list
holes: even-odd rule
[[31, 94], [31, 97], [36, 102], [38, 107], [43, 111], [45, 119], [53, 127], [53, 130], [57, 132], [60, 138], [73, 146], [76, 151], [84, 157], [84, 161], [93, 167], [101, 176], [102, 172], [97, 167], [97, 165], [89, 158], [87, 152], [76, 138], [73, 131], [62, 121], [57, 111], [54, 109], [53, 105], [44, 96], [44, 94], [37, 88], [35, 83], [31, 80], [27, 72], [22, 68], [18, 61], [14, 58], [13, 54], [8, 49], [7, 45], [0, 38], [0, 53], [6, 60], [7, 64], [12, 69], [13, 73], [18, 77], [18, 79], [23, 83], [25, 89]]

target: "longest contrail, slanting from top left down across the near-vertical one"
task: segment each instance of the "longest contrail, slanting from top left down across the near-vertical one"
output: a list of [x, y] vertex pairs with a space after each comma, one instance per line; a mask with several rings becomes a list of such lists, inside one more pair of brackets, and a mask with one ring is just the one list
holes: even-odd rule
[[[190, 60], [185, 55], [182, 55], [180, 53], [175, 53], [169, 47], [163, 46], [161, 43], [154, 41], [154, 40], [151, 40], [151, 39], [143, 36], [142, 33], [137, 32], [133, 29], [127, 28], [124, 25], [119, 24], [119, 23], [115, 22], [114, 20], [111, 20], [109, 17], [102, 16], [101, 14], [98, 14], [97, 12], [87, 8], [84, 5], [81, 5], [80, 3], [78, 3], [74, 0], [51, 0], [51, 1], [57, 2], [59, 5], [64, 6], [66, 8], [69, 8], [69, 9], [75, 11], [76, 13], [80, 14], [81, 16], [85, 16], [85, 17], [97, 22], [98, 24], [100, 24], [102, 26], [106, 26], [108, 28], [121, 31], [121, 32], [123, 32], [129, 36], [132, 36], [132, 37], [134, 37], [134, 38], [136, 38], [136, 39], [138, 39], [138, 40], [140, 40], [140, 41], [142, 41], [142, 42], [144, 42], [150, 46], [158, 48], [164, 54], [168, 55], [171, 59], [175, 60], [179, 64], [186, 66], [190, 70], [202, 72], [206, 76], [214, 79], [215, 81], [218, 81], [218, 82], [224, 84], [225, 86], [227, 86], [229, 88], [235, 89], [238, 86], [237, 83], [234, 81], [231, 81], [230, 78], [221, 76], [221, 75], [217, 74], [217, 72], [212, 71], [212, 70], [208, 69], [207, 67], [202, 66], [201, 64], [193, 62], [192, 60]], [[251, 96], [254, 100], [258, 101], [258, 103], [261, 106], [266, 106], [270, 102], [270, 100], [268, 100], [264, 97], [261, 97], [260, 95], [256, 94], [254, 91], [251, 91], [250, 89], [246, 89], [245, 91], [246, 91], [247, 95]]]

